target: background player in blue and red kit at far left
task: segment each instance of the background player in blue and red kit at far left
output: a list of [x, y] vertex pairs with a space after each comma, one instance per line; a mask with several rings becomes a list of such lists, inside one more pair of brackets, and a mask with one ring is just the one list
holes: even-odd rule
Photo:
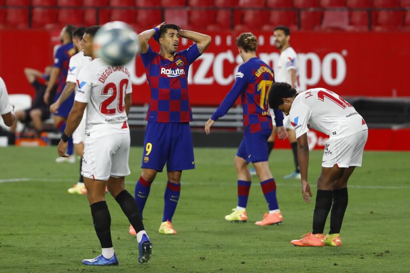
[[[76, 28], [72, 25], [66, 25], [61, 30], [60, 39], [62, 45], [57, 49], [54, 56], [54, 66], [51, 70], [50, 79], [48, 81], [47, 88], [44, 92], [45, 103], [48, 103], [51, 90], [54, 87], [54, 85], [57, 84], [57, 78], [59, 80], [59, 83], [57, 84], [57, 94], [55, 96], [54, 101], [58, 99], [66, 85], [69, 60], [71, 56], [73, 56], [76, 53], [76, 49], [73, 45], [73, 31], [75, 29]], [[58, 108], [58, 113], [53, 115], [54, 125], [60, 132], [64, 132], [64, 128], [66, 127], [66, 120], [71, 108], [73, 107], [73, 103], [74, 93], [72, 93], [71, 96], [68, 99], [66, 99], [64, 103], [61, 104], [61, 106]], [[73, 155], [73, 139], [71, 137], [68, 143], [67, 154], [70, 155], [68, 158], [56, 158], [56, 162], [67, 161], [70, 163], [74, 163], [76, 161], [76, 158]]]

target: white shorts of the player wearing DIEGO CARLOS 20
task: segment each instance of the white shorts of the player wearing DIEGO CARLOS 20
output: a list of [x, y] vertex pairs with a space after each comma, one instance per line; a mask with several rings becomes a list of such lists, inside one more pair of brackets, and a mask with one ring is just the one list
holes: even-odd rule
[[127, 176], [131, 173], [128, 167], [129, 145], [129, 133], [95, 139], [85, 137], [81, 175], [96, 180]]

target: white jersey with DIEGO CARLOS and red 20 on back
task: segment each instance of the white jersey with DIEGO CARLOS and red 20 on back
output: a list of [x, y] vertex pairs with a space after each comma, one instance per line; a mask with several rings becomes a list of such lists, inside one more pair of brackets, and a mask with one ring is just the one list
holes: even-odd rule
[[108, 65], [101, 58], [80, 71], [76, 101], [88, 103], [86, 136], [129, 132], [124, 102], [125, 94], [132, 92], [129, 76], [126, 67]]

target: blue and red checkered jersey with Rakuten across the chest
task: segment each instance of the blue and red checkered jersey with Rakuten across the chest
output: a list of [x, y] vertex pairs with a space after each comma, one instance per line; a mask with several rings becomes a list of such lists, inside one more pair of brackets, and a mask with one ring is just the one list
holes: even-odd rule
[[173, 61], [154, 52], [151, 46], [146, 53], [140, 55], [151, 88], [146, 119], [150, 122], [192, 121], [188, 97], [188, 70], [201, 56], [197, 44], [176, 52]]

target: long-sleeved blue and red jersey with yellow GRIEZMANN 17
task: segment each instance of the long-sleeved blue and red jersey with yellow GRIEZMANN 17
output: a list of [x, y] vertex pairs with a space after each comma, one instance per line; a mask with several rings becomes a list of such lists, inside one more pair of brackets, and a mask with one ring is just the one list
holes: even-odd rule
[[[275, 82], [273, 69], [254, 57], [238, 68], [236, 80], [211, 119], [223, 117], [241, 95], [244, 115], [244, 134], [272, 130], [272, 118], [268, 113], [268, 92]], [[283, 114], [275, 111], [277, 126], [283, 126]]]

